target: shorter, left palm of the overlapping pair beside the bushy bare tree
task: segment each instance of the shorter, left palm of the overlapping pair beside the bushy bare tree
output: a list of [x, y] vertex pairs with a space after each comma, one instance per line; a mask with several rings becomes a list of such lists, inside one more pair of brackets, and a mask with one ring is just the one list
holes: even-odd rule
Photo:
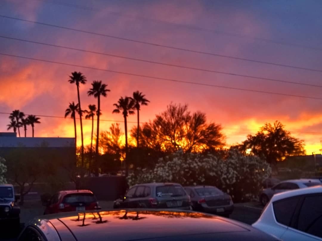
[[127, 117], [128, 114], [134, 114], [135, 101], [131, 97], [121, 97], [118, 100], [118, 103], [113, 104], [116, 108], [113, 110], [112, 113], [122, 113], [124, 117], [124, 129], [125, 129], [125, 176], [128, 176], [128, 124], [127, 124]]

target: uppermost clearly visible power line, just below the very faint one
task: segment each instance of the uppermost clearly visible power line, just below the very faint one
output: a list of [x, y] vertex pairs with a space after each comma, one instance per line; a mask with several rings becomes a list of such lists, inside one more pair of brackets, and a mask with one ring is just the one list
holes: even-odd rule
[[214, 53], [203, 52], [203, 51], [198, 51], [198, 50], [193, 50], [193, 49], [184, 49], [184, 48], [172, 47], [172, 46], [168, 46], [168, 45], [162, 45], [162, 44], [156, 44], [156, 43], [145, 42], [145, 41], [140, 41], [140, 40], [122, 38], [122, 37], [112, 36], [112, 35], [103, 34], [103, 33], [97, 33], [97, 32], [85, 31], [85, 30], [80, 30], [80, 29], [68, 28], [68, 27], [53, 25], [53, 24], [49, 24], [49, 23], [36, 22], [36, 21], [31, 21], [31, 20], [26, 20], [26, 19], [21, 19], [21, 18], [14, 18], [14, 17], [10, 17], [10, 16], [5, 16], [5, 15], [0, 15], [0, 17], [8, 18], [8, 19], [14, 19], [14, 20], [23, 21], [23, 22], [31, 22], [31, 23], [35, 23], [35, 24], [40, 24], [40, 25], [50, 26], [50, 27], [55, 27], [55, 28], [61, 28], [61, 29], [65, 29], [65, 30], [88, 33], [88, 34], [93, 34], [93, 35], [98, 35], [98, 36], [103, 36], [103, 37], [108, 37], [108, 38], [113, 38], [113, 39], [119, 39], [119, 40], [125, 40], [125, 41], [130, 41], [130, 42], [141, 43], [141, 44], [147, 44], [147, 45], [151, 45], [151, 46], [155, 46], [155, 47], [162, 47], [162, 48], [167, 48], [167, 49], [176, 49], [176, 50], [181, 50], [181, 51], [186, 51], [186, 52], [191, 52], [191, 53], [205, 54], [205, 55], [211, 55], [211, 56], [217, 56], [217, 57], [224, 57], [224, 58], [232, 58], [232, 59], [238, 59], [238, 60], [244, 60], [244, 61], [250, 61], [250, 62], [257, 62], [257, 63], [262, 63], [262, 64], [270, 64], [270, 65], [277, 65], [277, 66], [283, 66], [283, 67], [290, 67], [290, 68], [297, 68], [297, 69], [321, 72], [321, 70], [317, 70], [317, 69], [296, 67], [296, 66], [283, 65], [283, 64], [275, 64], [275, 63], [271, 63], [271, 62], [258, 61], [258, 60], [252, 60], [252, 59], [246, 59], [246, 58], [239, 58], [239, 57], [234, 57], [234, 56], [226, 56], [226, 55], [214, 54]]

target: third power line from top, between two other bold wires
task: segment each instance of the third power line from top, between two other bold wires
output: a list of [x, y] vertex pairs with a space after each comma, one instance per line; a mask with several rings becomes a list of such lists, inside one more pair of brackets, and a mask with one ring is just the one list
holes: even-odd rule
[[[247, 77], [247, 78], [253, 78], [253, 79], [261, 79], [261, 80], [267, 80], [267, 81], [281, 82], [281, 83], [287, 83], [287, 84], [306, 85], [306, 86], [322, 88], [322, 85], [314, 85], [314, 84], [307, 84], [307, 83], [301, 83], [301, 82], [286, 81], [286, 80], [279, 80], [279, 79], [271, 79], [271, 78], [264, 78], [264, 77], [236, 74], [236, 73], [231, 73], [231, 72], [223, 72], [223, 71], [216, 71], [216, 70], [209, 70], [209, 69], [202, 69], [202, 68], [187, 67], [187, 66], [182, 66], [182, 65], [161, 63], [161, 62], [156, 62], [156, 61], [151, 61], [151, 60], [130, 58], [130, 57], [125, 57], [125, 56], [120, 56], [120, 55], [113, 55], [113, 54], [96, 52], [96, 51], [85, 50], [85, 49], [77, 49], [77, 48], [66, 47], [66, 46], [62, 46], [62, 45], [55, 45], [55, 44], [43, 43], [43, 42], [39, 42], [39, 41], [18, 39], [18, 38], [12, 38], [12, 37], [1, 36], [1, 35], [0, 35], [0, 38], [10, 39], [10, 40], [18, 40], [18, 41], [23, 41], [23, 42], [28, 42], [28, 43], [41, 44], [41, 45], [45, 45], [45, 46], [51, 46], [51, 47], [62, 48], [62, 49], [71, 49], [71, 50], [76, 50], [76, 51], [81, 51], [81, 52], [86, 52], [86, 53], [99, 54], [99, 55], [104, 55], [104, 56], [111, 56], [111, 57], [117, 57], [117, 58], [136, 60], [136, 61], [152, 63], [152, 64], [159, 64], [159, 65], [164, 65], [164, 66], [179, 67], [179, 68], [192, 69], [192, 70], [198, 70], [198, 71], [205, 71], [205, 72], [211, 72], [211, 73], [217, 73], [217, 74], [223, 74], [223, 75], [233, 75], [233, 76]], [[316, 71], [322, 72], [322, 70], [316, 70]]]

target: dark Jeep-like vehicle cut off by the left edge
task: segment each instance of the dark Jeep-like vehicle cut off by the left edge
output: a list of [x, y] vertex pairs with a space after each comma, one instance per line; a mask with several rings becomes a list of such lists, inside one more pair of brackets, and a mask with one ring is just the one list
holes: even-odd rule
[[14, 195], [12, 184], [0, 185], [0, 221], [9, 223], [14, 228], [20, 227], [20, 207], [16, 205], [18, 198]]

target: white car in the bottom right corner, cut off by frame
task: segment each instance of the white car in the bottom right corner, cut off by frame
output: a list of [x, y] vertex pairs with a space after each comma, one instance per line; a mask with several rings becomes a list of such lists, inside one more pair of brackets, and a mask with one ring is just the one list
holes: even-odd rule
[[322, 240], [322, 185], [275, 194], [252, 226], [284, 241]]

